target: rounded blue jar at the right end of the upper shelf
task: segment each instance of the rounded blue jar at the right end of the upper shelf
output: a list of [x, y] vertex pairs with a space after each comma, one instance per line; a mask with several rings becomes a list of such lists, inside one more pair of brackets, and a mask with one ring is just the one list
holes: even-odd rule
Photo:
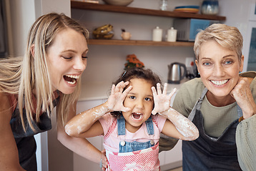
[[201, 7], [202, 14], [217, 15], [219, 13], [218, 0], [204, 0]]

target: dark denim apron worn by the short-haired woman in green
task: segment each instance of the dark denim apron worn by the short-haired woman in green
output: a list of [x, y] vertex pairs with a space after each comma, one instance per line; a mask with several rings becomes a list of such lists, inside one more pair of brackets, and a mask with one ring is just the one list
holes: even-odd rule
[[[203, 90], [201, 98], [188, 117], [197, 126], [200, 137], [194, 141], [182, 141], [183, 170], [241, 170], [237, 160], [237, 145], [235, 142], [238, 119], [225, 129], [220, 138], [212, 138], [207, 135], [200, 111], [206, 93], [207, 88]], [[239, 106], [237, 107], [237, 113], [238, 117], [242, 115]]]

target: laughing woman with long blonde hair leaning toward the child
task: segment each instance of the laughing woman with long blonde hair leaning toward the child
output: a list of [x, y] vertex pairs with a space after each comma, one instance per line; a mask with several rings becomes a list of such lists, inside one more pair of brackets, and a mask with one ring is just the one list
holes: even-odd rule
[[69, 137], [63, 126], [76, 114], [87, 38], [88, 31], [68, 16], [46, 14], [31, 26], [24, 58], [0, 61], [0, 170], [36, 170], [33, 135], [51, 129], [55, 106], [59, 141], [100, 162], [99, 150]]

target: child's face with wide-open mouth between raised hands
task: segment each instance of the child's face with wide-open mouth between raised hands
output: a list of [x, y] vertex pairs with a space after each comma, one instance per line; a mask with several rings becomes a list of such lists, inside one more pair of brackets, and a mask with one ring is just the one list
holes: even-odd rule
[[129, 81], [132, 90], [124, 100], [124, 106], [131, 108], [129, 112], [122, 112], [126, 120], [126, 128], [130, 132], [136, 132], [152, 113], [154, 100], [152, 83], [142, 78], [133, 78]]

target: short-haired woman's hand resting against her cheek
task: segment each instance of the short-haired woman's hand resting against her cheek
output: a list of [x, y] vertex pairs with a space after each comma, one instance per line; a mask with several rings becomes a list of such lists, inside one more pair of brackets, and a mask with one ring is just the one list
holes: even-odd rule
[[256, 104], [252, 98], [250, 83], [247, 78], [240, 78], [230, 95], [237, 101], [237, 105], [242, 109], [242, 115], [245, 119], [256, 113]]

